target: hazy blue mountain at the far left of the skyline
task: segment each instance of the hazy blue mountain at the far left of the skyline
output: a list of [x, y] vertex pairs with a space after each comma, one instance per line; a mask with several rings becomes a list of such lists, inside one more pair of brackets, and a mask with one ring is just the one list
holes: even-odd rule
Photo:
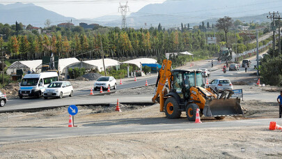
[[0, 15], [0, 22], [3, 24], [15, 24], [17, 21], [25, 25], [32, 24], [35, 27], [44, 27], [44, 23], [48, 19], [51, 20], [52, 24], [70, 22], [70, 20], [74, 24], [77, 22], [73, 17], [59, 15], [32, 3], [0, 4]]

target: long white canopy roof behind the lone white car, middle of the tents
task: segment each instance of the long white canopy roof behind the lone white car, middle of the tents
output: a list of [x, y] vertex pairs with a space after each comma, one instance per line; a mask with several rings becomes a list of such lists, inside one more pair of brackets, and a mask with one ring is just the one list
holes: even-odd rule
[[[111, 66], [119, 66], [120, 62], [116, 61], [114, 59], [104, 59], [104, 66], [111, 67]], [[89, 61], [82, 61], [80, 63], [74, 63], [73, 65], [70, 65], [69, 68], [86, 68], [86, 69], [96, 69], [101, 72], [104, 71], [103, 66], [103, 59], [97, 59], [97, 60], [89, 60]]]

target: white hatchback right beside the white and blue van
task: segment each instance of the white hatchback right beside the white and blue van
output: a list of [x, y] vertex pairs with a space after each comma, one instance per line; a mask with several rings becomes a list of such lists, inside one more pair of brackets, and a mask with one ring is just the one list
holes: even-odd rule
[[63, 96], [73, 96], [73, 88], [72, 84], [67, 81], [57, 81], [52, 82], [47, 86], [47, 89], [45, 89], [43, 96], [45, 99], [48, 97], [58, 97], [63, 98]]

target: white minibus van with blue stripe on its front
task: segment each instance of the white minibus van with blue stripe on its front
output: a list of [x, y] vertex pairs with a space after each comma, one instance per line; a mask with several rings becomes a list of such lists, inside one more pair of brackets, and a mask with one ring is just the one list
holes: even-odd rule
[[27, 96], [40, 97], [51, 82], [58, 81], [58, 73], [38, 73], [24, 75], [19, 86], [19, 98]]

